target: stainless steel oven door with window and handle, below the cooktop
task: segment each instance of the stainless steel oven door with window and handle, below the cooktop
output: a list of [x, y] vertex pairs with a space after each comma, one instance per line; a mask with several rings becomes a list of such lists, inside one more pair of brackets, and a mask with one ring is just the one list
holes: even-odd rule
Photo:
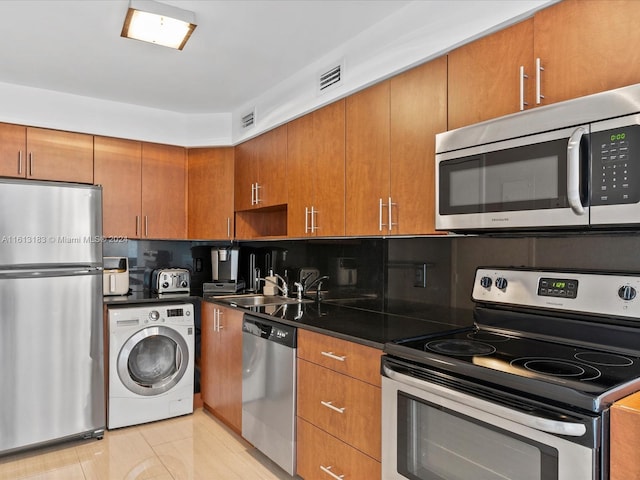
[[597, 478], [598, 449], [590, 445], [597, 435], [590, 420], [539, 407], [524, 413], [425, 381], [420, 367], [417, 374], [411, 370], [404, 362], [383, 359], [386, 480]]

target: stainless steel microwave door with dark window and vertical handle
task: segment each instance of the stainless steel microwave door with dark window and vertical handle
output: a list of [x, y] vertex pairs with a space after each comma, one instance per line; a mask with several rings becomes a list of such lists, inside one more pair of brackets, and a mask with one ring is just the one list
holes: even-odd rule
[[436, 229], [589, 224], [589, 126], [436, 155]]

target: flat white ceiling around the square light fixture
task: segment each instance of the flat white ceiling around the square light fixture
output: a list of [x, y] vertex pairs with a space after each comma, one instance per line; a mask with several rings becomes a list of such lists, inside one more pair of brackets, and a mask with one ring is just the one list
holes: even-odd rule
[[0, 1], [0, 82], [185, 114], [230, 112], [408, 0], [174, 0], [183, 51], [120, 37], [128, 0]]

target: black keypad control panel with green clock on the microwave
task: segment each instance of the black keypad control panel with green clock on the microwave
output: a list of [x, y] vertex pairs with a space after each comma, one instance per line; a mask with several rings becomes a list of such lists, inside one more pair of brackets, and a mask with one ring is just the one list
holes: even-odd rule
[[640, 148], [640, 125], [591, 135], [591, 205], [640, 201], [640, 168], [633, 155]]

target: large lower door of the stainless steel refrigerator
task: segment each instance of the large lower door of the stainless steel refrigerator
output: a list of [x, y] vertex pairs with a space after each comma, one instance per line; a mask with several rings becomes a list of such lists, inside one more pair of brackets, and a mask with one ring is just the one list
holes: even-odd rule
[[105, 427], [102, 272], [0, 270], [0, 453]]

